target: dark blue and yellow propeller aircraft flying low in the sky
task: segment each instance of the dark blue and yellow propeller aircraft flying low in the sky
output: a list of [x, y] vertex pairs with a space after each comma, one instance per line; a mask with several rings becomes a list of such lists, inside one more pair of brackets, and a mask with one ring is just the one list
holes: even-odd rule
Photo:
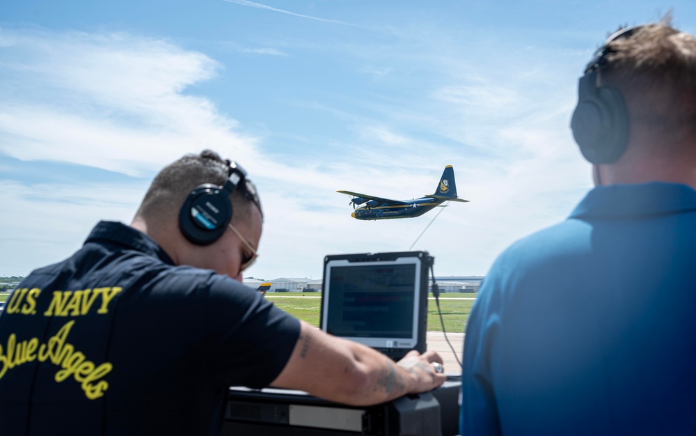
[[445, 201], [468, 203], [468, 200], [457, 198], [457, 185], [454, 183], [454, 169], [452, 165], [445, 166], [445, 171], [442, 173], [434, 194], [414, 198], [413, 200], [390, 200], [389, 198], [350, 191], [336, 192], [353, 196], [350, 204], [354, 208], [357, 205], [361, 205], [351, 213], [351, 217], [355, 219], [413, 218], [420, 217], [420, 215], [440, 206]]

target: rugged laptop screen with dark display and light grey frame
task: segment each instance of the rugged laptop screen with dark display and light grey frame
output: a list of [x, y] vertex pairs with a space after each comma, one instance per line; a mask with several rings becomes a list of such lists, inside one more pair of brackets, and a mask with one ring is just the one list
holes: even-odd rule
[[424, 251], [326, 256], [322, 330], [400, 359], [425, 351]]

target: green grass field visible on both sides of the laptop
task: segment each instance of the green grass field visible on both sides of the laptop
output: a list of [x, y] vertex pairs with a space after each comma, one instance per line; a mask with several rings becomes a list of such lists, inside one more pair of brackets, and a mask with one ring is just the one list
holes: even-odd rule
[[[319, 304], [321, 299], [319, 298], [308, 298], [308, 297], [320, 297], [319, 293], [267, 293], [266, 297], [274, 302], [274, 304], [283, 309], [292, 316], [305, 320], [315, 327], [319, 327]], [[442, 318], [445, 322], [445, 329], [447, 332], [464, 332], [464, 327], [466, 326], [466, 321], [469, 319], [469, 314], [471, 313], [471, 306], [473, 306], [473, 299], [476, 294], [441, 294], [440, 295], [440, 309], [442, 311]], [[276, 298], [280, 297], [280, 298]], [[294, 297], [294, 298], [288, 298]], [[440, 322], [440, 317], [438, 316], [437, 305], [435, 304], [435, 299], [428, 299], [428, 331], [430, 332], [442, 332], [442, 324]]]

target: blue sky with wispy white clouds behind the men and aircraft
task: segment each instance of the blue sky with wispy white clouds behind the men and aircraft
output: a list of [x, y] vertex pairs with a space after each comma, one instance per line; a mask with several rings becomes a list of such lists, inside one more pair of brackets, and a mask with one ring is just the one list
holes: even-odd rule
[[186, 153], [237, 159], [266, 221], [248, 276], [322, 275], [326, 254], [409, 249], [440, 210], [357, 221], [337, 189], [459, 196], [413, 249], [484, 275], [592, 187], [569, 130], [604, 38], [696, 2], [15, 1], [0, 8], [0, 275], [129, 223]]

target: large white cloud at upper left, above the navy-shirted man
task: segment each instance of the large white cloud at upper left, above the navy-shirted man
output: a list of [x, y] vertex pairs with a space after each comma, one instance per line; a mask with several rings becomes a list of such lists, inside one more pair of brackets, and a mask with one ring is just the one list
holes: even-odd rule
[[253, 160], [253, 139], [209, 100], [184, 95], [220, 65], [124, 33], [4, 32], [0, 151], [142, 175], [191, 147]]

